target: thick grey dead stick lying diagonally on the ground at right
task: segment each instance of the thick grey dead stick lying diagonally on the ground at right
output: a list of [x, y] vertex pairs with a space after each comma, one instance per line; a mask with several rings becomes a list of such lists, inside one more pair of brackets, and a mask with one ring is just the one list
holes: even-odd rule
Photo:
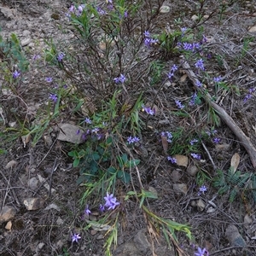
[[181, 56], [181, 58], [182, 58], [181, 65], [184, 68], [184, 71], [187, 73], [189, 79], [193, 82], [195, 89], [201, 91], [201, 95], [203, 96], [205, 101], [212, 108], [215, 109], [215, 111], [218, 113], [218, 116], [221, 119], [223, 119], [224, 122], [226, 123], [226, 125], [228, 125], [230, 127], [230, 130], [234, 132], [236, 137], [241, 142], [242, 146], [247, 150], [247, 154], [249, 154], [249, 156], [250, 156], [250, 159], [253, 164], [253, 168], [256, 169], [256, 148], [254, 148], [253, 143], [251, 142], [250, 138], [247, 137], [243, 131], [241, 131], [241, 129], [236, 125], [236, 122], [234, 121], [234, 119], [232, 119], [230, 117], [230, 115], [228, 113], [226, 113], [224, 108], [221, 108], [220, 106], [218, 106], [217, 103], [212, 102], [212, 97], [205, 90], [201, 90], [201, 88], [196, 86], [196, 84], [197, 84], [197, 82], [199, 82], [199, 80], [197, 79], [195, 73], [189, 66], [189, 63], [187, 61], [184, 61], [183, 56]]

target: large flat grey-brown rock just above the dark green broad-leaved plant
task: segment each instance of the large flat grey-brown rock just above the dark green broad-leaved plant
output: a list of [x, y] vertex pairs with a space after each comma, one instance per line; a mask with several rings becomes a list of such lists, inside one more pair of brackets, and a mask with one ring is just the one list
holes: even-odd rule
[[[58, 140], [68, 143], [84, 143], [83, 130], [77, 125], [61, 124], [59, 125], [61, 130], [58, 136]], [[63, 133], [65, 132], [65, 134]]]

